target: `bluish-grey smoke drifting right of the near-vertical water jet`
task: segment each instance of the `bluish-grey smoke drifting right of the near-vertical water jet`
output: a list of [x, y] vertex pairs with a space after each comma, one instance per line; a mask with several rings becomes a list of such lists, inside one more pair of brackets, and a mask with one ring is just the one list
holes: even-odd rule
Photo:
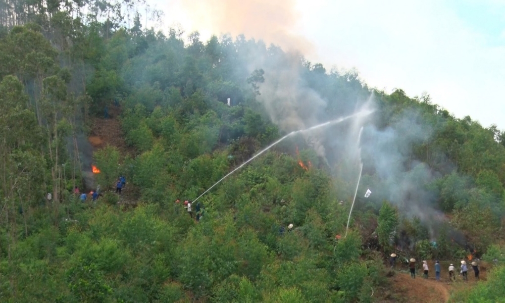
[[400, 117], [382, 130], [373, 125], [365, 128], [364, 158], [375, 180], [363, 186], [373, 187], [371, 200], [388, 200], [407, 217], [418, 217], [434, 239], [444, 216], [434, 208], [437, 196], [428, 185], [438, 175], [414, 160], [412, 149], [429, 138], [432, 129], [414, 112], [405, 111]]

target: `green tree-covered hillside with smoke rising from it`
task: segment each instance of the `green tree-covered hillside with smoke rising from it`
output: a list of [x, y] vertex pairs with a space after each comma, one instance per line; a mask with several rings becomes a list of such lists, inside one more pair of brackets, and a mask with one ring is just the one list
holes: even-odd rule
[[146, 29], [141, 1], [0, 9], [1, 301], [401, 301], [391, 252], [495, 260], [453, 299], [505, 296], [505, 132], [262, 41]]

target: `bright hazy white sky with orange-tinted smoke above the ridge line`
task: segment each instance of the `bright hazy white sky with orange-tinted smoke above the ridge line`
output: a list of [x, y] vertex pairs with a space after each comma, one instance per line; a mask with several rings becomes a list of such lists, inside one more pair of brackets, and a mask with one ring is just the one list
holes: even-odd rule
[[[505, 130], [505, 0], [147, 2], [164, 11], [164, 28], [178, 23], [187, 33], [198, 30], [203, 40], [244, 29], [247, 38], [282, 45], [285, 37], [269, 32], [279, 27], [327, 70], [355, 68], [369, 86], [388, 92], [427, 92], [458, 118], [469, 115]], [[268, 14], [259, 16], [264, 7]], [[227, 9], [229, 18], [216, 17], [218, 9]]]

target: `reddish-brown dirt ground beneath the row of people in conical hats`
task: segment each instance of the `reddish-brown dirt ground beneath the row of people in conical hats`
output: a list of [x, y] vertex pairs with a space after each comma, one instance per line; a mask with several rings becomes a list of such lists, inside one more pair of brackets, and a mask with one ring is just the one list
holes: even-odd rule
[[[420, 263], [420, 262], [419, 262]], [[456, 281], [449, 280], [448, 267], [449, 264], [454, 264], [456, 268]], [[423, 279], [423, 272], [418, 264], [416, 271], [416, 278], [410, 276], [409, 270], [406, 266], [396, 266], [395, 274], [390, 277], [391, 289], [387, 294], [383, 294], [384, 299], [381, 302], [433, 302], [445, 303], [449, 300], [451, 293], [460, 289], [468, 289], [477, 283], [474, 271], [470, 262], [468, 262], [468, 281], [463, 280], [459, 276], [460, 261], [442, 261], [440, 281], [435, 280], [434, 266], [435, 262], [428, 262], [430, 269], [428, 279]], [[484, 262], [479, 263], [480, 280], [486, 280], [488, 265]]]

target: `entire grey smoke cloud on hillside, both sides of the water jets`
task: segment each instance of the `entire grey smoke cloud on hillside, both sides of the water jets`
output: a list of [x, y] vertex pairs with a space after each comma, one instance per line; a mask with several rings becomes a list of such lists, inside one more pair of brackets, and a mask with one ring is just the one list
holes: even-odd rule
[[[265, 82], [260, 85], [258, 100], [282, 131], [304, 129], [338, 118], [327, 115], [330, 103], [342, 106], [341, 116], [374, 106], [373, 95], [368, 100], [360, 100], [358, 96], [338, 102], [325, 100], [302, 77], [306, 67], [302, 66], [299, 56], [289, 54], [280, 61], [275, 57], [276, 60], [257, 57], [250, 70], [264, 69]], [[397, 117], [401, 118], [389, 121], [385, 129], [378, 129], [370, 121], [354, 120], [306, 134], [305, 140], [327, 161], [335, 177], [348, 187], [339, 190], [346, 195], [340, 198], [354, 193], [359, 164], [363, 161], [365, 176], [359, 188], [358, 203], [365, 201], [363, 194], [370, 188], [373, 194], [368, 201], [380, 205], [382, 200], [388, 200], [397, 205], [403, 215], [419, 217], [430, 236], [435, 238], [444, 217], [434, 208], [437, 196], [428, 185], [437, 176], [426, 164], [415, 161], [412, 149], [427, 140], [432, 129], [415, 112], [405, 111]], [[358, 142], [362, 126], [364, 131]]]

